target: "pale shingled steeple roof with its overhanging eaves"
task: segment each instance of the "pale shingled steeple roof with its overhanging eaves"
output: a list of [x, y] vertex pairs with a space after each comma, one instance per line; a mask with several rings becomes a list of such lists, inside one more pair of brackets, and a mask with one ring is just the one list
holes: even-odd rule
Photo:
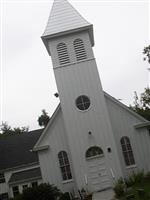
[[91, 45], [94, 46], [93, 25], [86, 21], [67, 0], [54, 0], [42, 40], [49, 52], [48, 39], [83, 30], [88, 31]]

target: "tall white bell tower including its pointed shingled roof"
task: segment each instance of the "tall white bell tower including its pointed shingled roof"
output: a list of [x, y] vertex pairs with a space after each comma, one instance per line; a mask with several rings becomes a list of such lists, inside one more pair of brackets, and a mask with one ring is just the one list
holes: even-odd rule
[[53, 63], [78, 188], [94, 188], [86, 157], [91, 147], [103, 151], [105, 173], [97, 171], [107, 175], [103, 183], [100, 177], [101, 189], [110, 187], [122, 172], [92, 50], [93, 25], [67, 0], [54, 0], [42, 40]]

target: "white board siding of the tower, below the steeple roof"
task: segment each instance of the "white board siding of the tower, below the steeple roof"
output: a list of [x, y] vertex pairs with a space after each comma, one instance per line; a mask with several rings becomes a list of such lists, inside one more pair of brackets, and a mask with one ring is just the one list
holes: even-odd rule
[[[80, 62], [77, 61], [73, 46], [74, 40], [78, 38], [83, 40], [87, 55], [86, 59]], [[70, 63], [64, 66], [59, 65], [56, 51], [56, 46], [60, 42], [67, 44], [70, 57]], [[109, 177], [112, 179], [110, 166], [116, 178], [120, 177], [120, 163], [88, 32], [83, 31], [50, 40], [49, 48], [78, 187], [85, 184], [85, 152], [91, 144], [103, 148]], [[79, 111], [75, 106], [76, 98], [82, 94], [91, 100], [91, 107], [85, 112]], [[91, 138], [88, 135], [89, 131], [92, 132]], [[112, 148], [111, 154], [107, 152], [109, 146]]]

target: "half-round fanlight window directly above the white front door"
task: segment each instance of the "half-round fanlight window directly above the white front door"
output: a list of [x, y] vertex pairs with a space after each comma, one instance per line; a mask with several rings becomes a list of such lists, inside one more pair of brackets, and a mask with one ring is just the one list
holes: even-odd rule
[[90, 147], [85, 154], [86, 158], [92, 158], [94, 156], [102, 156], [102, 155], [104, 155], [103, 150], [97, 146]]

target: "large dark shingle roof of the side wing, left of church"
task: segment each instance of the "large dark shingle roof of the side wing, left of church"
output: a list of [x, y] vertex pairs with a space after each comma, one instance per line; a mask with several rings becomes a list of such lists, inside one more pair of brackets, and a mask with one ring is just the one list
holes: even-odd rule
[[0, 137], [0, 170], [38, 162], [38, 156], [30, 151], [43, 129], [28, 133]]

